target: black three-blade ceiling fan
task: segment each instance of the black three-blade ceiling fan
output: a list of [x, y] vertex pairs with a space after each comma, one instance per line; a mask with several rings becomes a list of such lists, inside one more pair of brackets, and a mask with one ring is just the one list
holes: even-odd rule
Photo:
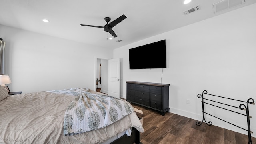
[[116, 26], [119, 22], [122, 22], [124, 19], [126, 19], [127, 17], [123, 14], [122, 16], [120, 16], [119, 18], [115, 19], [114, 21], [110, 22], [108, 24], [108, 22], [111, 20], [110, 17], [106, 17], [104, 18], [105, 21], [107, 22], [107, 24], [105, 26], [92, 26], [92, 25], [86, 25], [86, 24], [81, 24], [81, 26], [91, 26], [91, 27], [96, 27], [96, 28], [104, 28], [104, 31], [109, 32], [112, 36], [117, 37], [117, 35], [115, 34], [115, 32], [112, 30], [112, 28], [114, 26]]

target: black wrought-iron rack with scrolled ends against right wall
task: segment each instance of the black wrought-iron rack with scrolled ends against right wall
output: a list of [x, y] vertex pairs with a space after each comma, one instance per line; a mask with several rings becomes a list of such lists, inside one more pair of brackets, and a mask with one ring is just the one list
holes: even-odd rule
[[[204, 104], [209, 104], [209, 103], [207, 103], [207, 102], [204, 102], [204, 100], [209, 100], [209, 101], [211, 101], [211, 102], [216, 102], [216, 103], [218, 103], [218, 104], [223, 104], [223, 105], [226, 105], [226, 106], [230, 106], [230, 107], [234, 107], [234, 108], [239, 108], [240, 110], [245, 110], [245, 111], [246, 111], [246, 114], [242, 114], [242, 113], [239, 113], [239, 112], [235, 112], [235, 111], [232, 111], [232, 110], [228, 110], [228, 109], [226, 109], [226, 108], [222, 108], [222, 107], [220, 107], [220, 106], [215, 106], [214, 104], [209, 104], [209, 105], [211, 105], [211, 106], [215, 106], [215, 107], [218, 107], [218, 108], [222, 108], [222, 109], [224, 109], [224, 110], [228, 110], [228, 111], [230, 111], [230, 112], [235, 112], [235, 113], [237, 113], [237, 114], [241, 114], [241, 115], [243, 115], [243, 116], [246, 116], [246, 118], [247, 118], [247, 126], [248, 126], [248, 129], [247, 129], [247, 130], [244, 129], [244, 128], [241, 128], [241, 127], [239, 127], [239, 126], [236, 126], [235, 124], [232, 124], [232, 123], [230, 123], [230, 122], [227, 122], [226, 120], [222, 120], [222, 119], [220, 119], [220, 118], [218, 118], [218, 119], [219, 119], [219, 120], [222, 120], [222, 121], [224, 121], [224, 122], [227, 122], [227, 123], [229, 123], [229, 124], [232, 124], [233, 126], [236, 126], [236, 127], [238, 127], [238, 128], [241, 128], [241, 129], [243, 129], [243, 130], [246, 130], [246, 131], [248, 132], [248, 144], [252, 144], [252, 137], [251, 137], [251, 134], [252, 134], [253, 132], [251, 131], [251, 128], [250, 128], [250, 118], [252, 118], [252, 116], [249, 115], [249, 104], [255, 104], [255, 103], [254, 103], [254, 100], [253, 100], [252, 98], [249, 98], [249, 99], [247, 100], [247, 102], [245, 102], [245, 101], [241, 101], [241, 100], [235, 100], [235, 99], [232, 99], [232, 98], [226, 98], [226, 99], [229, 99], [229, 100], [235, 100], [235, 101], [239, 101], [239, 102], [244, 102], [244, 103], [246, 103], [246, 105], [245, 105], [245, 104], [240, 104], [239, 107], [237, 107], [237, 106], [232, 106], [232, 105], [224, 104], [224, 103], [222, 103], [222, 102], [217, 102], [217, 101], [214, 101], [214, 100], [206, 99], [206, 98], [204, 98], [204, 94], [211, 95], [211, 96], [216, 96], [216, 95], [213, 95], [213, 94], [208, 94], [206, 90], [204, 90], [204, 91], [202, 92], [202, 95], [201, 95], [201, 94], [198, 94], [198, 95], [197, 95], [198, 98], [202, 98], [202, 101], [201, 101], [201, 102], [202, 102], [203, 120], [202, 120], [202, 122], [196, 122], [196, 125], [197, 125], [197, 126], [200, 126], [200, 125], [203, 123], [203, 121], [204, 121], [208, 126], [211, 126], [211, 125], [212, 125], [212, 122], [209, 121], [209, 122], [207, 123], [206, 120], [205, 120], [205, 117], [204, 117], [204, 114], [208, 114], [208, 113], [204, 112]], [[222, 97], [222, 96], [216, 96], [216, 97], [225, 98], [225, 97]], [[250, 101], [251, 101], [251, 102], [250, 102]], [[208, 115], [213, 116], [213, 115], [211, 115], [211, 114], [208, 114]], [[214, 118], [217, 118], [216, 116], [213, 116], [213, 117], [214, 117]]]

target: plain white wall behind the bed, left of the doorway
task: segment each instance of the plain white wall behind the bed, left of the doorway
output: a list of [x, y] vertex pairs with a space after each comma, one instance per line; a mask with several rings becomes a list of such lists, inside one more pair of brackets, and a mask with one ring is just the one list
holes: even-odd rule
[[112, 58], [106, 48], [0, 25], [6, 41], [5, 74], [11, 91], [22, 93], [72, 87], [95, 88], [95, 57]]

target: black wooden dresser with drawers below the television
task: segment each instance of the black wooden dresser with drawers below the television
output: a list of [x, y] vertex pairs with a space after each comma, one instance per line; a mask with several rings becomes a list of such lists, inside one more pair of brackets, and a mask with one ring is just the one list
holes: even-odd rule
[[169, 112], [169, 86], [151, 82], [127, 81], [126, 100], [154, 110], [164, 116]]

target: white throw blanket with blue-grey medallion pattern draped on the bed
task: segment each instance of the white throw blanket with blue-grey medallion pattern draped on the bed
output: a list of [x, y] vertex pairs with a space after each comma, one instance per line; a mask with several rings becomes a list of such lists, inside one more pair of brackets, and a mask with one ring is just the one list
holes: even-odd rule
[[76, 96], [65, 112], [63, 126], [65, 135], [103, 128], [134, 112], [133, 107], [125, 100], [92, 94], [84, 88], [48, 92]]

